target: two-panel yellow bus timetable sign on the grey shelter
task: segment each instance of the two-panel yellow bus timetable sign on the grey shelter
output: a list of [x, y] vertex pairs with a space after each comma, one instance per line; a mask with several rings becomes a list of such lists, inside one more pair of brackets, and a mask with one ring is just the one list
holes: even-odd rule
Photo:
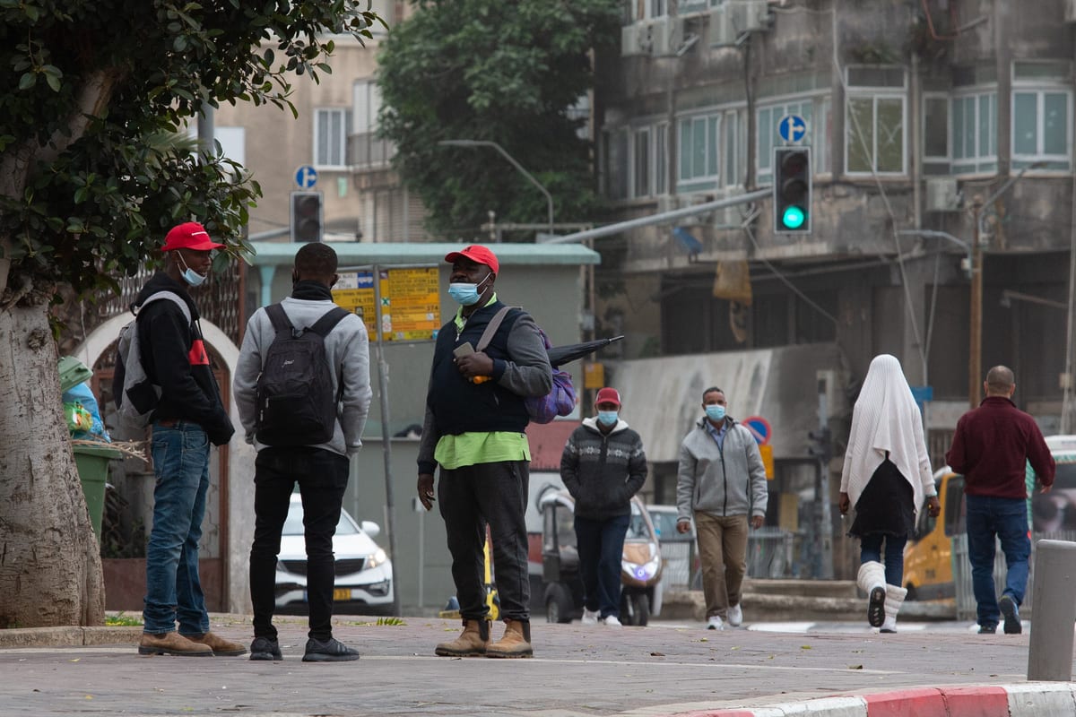
[[[381, 335], [385, 341], [430, 341], [441, 328], [437, 267], [378, 269], [381, 282]], [[332, 301], [358, 314], [377, 341], [373, 270], [342, 272]]]

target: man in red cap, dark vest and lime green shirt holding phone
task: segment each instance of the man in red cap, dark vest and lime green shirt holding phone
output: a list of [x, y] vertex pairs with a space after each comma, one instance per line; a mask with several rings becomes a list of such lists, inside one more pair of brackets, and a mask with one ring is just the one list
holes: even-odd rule
[[[419, 500], [434, 504], [434, 471], [441, 467], [441, 502], [452, 578], [464, 631], [441, 643], [449, 657], [530, 657], [530, 587], [527, 575], [527, 503], [530, 447], [524, 399], [553, 387], [546, 344], [530, 315], [497, 300], [493, 283], [499, 263], [473, 244], [444, 257], [452, 263], [449, 295], [459, 304], [441, 327], [426, 393], [419, 448]], [[489, 344], [486, 327], [501, 316]], [[482, 350], [475, 350], [476, 347]], [[494, 572], [505, 634], [490, 641], [483, 586], [483, 545], [490, 527]]]

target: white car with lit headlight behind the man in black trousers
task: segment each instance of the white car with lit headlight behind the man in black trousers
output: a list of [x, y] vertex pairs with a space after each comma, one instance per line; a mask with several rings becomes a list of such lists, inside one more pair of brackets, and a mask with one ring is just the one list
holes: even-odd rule
[[[340, 512], [340, 522], [332, 537], [336, 555], [336, 586], [332, 590], [334, 612], [359, 615], [392, 615], [393, 563], [373, 537], [381, 532], [378, 524], [362, 525]], [[292, 494], [292, 505], [284, 521], [284, 531], [277, 558], [277, 608], [307, 608], [307, 546], [302, 536], [302, 499]]]

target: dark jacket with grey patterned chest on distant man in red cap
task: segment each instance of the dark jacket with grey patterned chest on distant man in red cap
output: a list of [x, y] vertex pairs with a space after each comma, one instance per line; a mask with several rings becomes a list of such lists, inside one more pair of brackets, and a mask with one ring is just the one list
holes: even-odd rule
[[606, 520], [629, 515], [632, 496], [647, 479], [642, 439], [623, 420], [605, 434], [587, 418], [564, 445], [561, 479], [576, 499], [577, 516]]

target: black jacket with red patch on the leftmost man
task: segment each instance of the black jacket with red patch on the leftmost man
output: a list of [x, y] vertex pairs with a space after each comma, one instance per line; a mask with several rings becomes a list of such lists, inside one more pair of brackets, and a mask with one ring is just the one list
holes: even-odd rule
[[198, 326], [198, 307], [186, 287], [157, 272], [139, 291], [134, 303], [141, 305], [146, 297], [161, 289], [179, 295], [186, 302], [192, 321], [188, 325], [183, 312], [171, 301], [153, 301], [138, 314], [142, 365], [150, 379], [161, 388], [153, 418], [193, 421], [206, 430], [214, 445], [224, 445], [236, 429], [221, 401], [221, 389]]

